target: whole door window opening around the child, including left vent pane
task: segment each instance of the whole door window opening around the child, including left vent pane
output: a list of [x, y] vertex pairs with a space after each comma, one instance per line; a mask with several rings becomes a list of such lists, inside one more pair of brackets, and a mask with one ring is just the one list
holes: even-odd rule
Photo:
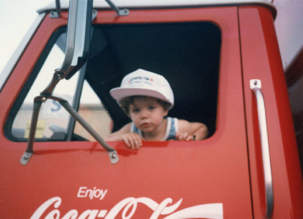
[[[12, 140], [27, 140], [33, 98], [49, 83], [45, 79], [51, 79], [50, 69], [62, 64], [66, 33], [61, 31], [58, 35], [56, 43], [51, 49], [48, 47], [47, 59], [34, 84], [29, 85], [31, 88], [20, 110], [13, 116], [9, 129]], [[78, 112], [102, 137], [120, 129], [130, 119], [109, 95], [109, 90], [118, 87], [126, 74], [142, 68], [162, 74], [169, 81], [175, 106], [168, 116], [202, 122], [211, 136], [216, 124], [220, 48], [220, 29], [211, 22], [95, 25], [91, 52], [82, 75], [83, 89], [82, 85], [77, 88], [78, 94], [82, 92]], [[43, 54], [47, 53], [46, 49]], [[78, 108], [78, 103], [74, 104], [77, 80], [78, 73], [70, 80], [60, 81], [53, 93], [68, 100], [75, 109]], [[78, 83], [82, 81], [79, 79]], [[25, 96], [24, 90], [27, 92], [24, 88], [20, 96]], [[60, 104], [48, 99], [42, 104], [35, 140], [95, 141], [78, 123], [73, 129], [70, 118]]]

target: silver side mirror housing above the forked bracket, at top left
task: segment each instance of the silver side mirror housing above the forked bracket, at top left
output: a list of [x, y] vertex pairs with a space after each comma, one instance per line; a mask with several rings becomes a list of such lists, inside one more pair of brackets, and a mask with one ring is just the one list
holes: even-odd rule
[[71, 78], [86, 62], [89, 53], [93, 0], [70, 0], [65, 58], [58, 72]]

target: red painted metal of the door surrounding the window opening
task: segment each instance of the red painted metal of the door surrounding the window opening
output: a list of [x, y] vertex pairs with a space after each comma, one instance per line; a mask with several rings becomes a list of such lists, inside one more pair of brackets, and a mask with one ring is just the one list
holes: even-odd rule
[[138, 151], [110, 142], [120, 159], [115, 165], [96, 142], [35, 142], [35, 153], [23, 166], [19, 159], [26, 143], [7, 140], [3, 127], [48, 38], [66, 21], [66, 13], [45, 18], [0, 94], [1, 217], [252, 218], [237, 8], [131, 10], [124, 17], [99, 11], [95, 20], [217, 24], [222, 44], [213, 136], [144, 142]]

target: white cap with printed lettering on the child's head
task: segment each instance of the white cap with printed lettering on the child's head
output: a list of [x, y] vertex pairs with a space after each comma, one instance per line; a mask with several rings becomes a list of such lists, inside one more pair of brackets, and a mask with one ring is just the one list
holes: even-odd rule
[[170, 103], [168, 110], [174, 106], [174, 93], [168, 81], [162, 75], [143, 69], [127, 74], [122, 79], [121, 86], [113, 88], [109, 93], [117, 102], [127, 96], [139, 95], [155, 97]]

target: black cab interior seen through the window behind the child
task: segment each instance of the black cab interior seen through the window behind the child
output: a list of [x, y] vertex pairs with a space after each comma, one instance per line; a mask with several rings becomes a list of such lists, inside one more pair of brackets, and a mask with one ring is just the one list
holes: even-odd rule
[[162, 74], [175, 106], [168, 116], [202, 122], [215, 132], [221, 47], [220, 29], [210, 22], [95, 26], [85, 79], [112, 117], [113, 131], [129, 118], [109, 95], [138, 68]]

